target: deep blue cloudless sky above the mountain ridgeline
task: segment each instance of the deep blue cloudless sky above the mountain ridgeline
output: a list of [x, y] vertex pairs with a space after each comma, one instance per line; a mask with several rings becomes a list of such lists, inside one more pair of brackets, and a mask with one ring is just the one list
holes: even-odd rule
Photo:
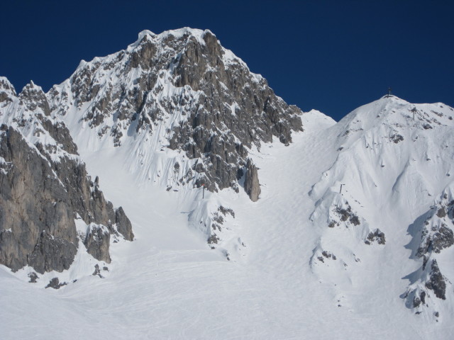
[[0, 75], [48, 91], [140, 30], [210, 29], [278, 96], [336, 120], [391, 86], [454, 106], [454, 1], [4, 1]]

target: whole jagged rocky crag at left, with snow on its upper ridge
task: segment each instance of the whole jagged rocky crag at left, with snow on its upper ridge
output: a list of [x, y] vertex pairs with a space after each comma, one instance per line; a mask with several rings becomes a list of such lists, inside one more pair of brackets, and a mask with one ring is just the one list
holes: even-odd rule
[[0, 263], [12, 271], [62, 272], [81, 251], [79, 240], [109, 263], [111, 237], [131, 241], [131, 222], [87, 175], [42, 89], [31, 82], [16, 95], [1, 77], [0, 125]]

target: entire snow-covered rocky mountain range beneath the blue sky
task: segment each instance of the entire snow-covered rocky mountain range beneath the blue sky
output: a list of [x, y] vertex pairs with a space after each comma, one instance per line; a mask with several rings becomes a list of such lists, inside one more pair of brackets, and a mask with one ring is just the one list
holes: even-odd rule
[[6, 339], [450, 339], [453, 108], [302, 113], [189, 28], [0, 87]]

